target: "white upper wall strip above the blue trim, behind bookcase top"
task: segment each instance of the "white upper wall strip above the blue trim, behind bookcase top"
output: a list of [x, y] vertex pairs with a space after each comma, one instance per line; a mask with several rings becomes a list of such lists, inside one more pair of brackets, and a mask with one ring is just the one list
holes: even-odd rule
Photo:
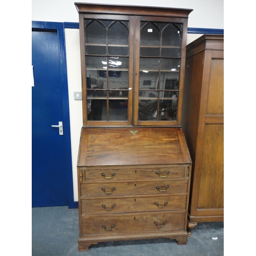
[[[32, 0], [32, 20], [44, 22], [78, 22], [74, 0]], [[114, 5], [158, 6], [193, 9], [188, 27], [223, 29], [224, 0], [101, 0], [79, 1]]]

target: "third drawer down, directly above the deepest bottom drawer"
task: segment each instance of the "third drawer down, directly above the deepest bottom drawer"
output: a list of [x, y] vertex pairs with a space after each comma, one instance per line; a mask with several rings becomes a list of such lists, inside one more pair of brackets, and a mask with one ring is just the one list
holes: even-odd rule
[[100, 197], [81, 200], [82, 215], [110, 212], [185, 210], [186, 195]]

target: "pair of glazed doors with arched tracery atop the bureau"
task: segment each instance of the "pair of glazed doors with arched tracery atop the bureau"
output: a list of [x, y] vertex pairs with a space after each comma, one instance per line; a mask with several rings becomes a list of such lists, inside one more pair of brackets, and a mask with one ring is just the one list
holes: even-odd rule
[[180, 125], [187, 19], [80, 15], [83, 125]]

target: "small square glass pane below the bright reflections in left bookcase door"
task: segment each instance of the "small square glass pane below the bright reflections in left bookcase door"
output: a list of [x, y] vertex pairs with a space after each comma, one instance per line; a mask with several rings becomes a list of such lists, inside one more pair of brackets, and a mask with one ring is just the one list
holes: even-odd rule
[[128, 71], [109, 71], [109, 89], [128, 90], [129, 73]]

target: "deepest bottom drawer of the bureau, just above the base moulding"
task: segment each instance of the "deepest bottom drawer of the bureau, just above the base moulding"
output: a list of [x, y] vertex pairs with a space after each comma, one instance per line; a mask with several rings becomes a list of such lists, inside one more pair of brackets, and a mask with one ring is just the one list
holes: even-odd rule
[[185, 212], [105, 214], [82, 217], [82, 236], [184, 230]]

